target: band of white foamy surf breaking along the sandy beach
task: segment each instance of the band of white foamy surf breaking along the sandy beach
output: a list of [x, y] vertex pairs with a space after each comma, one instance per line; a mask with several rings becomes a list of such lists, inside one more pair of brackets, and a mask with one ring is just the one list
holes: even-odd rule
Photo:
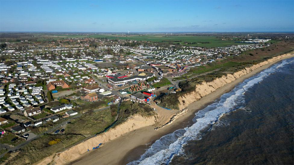
[[211, 130], [212, 126], [224, 114], [245, 108], [244, 92], [264, 80], [271, 73], [277, 72], [279, 68], [293, 62], [293, 58], [283, 60], [281, 63], [274, 64], [272, 67], [246, 79], [229, 93], [223, 94], [219, 101], [216, 100], [213, 104], [195, 113], [194, 124], [191, 127], [176, 130], [174, 133], [161, 137], [141, 155], [139, 160], [129, 164], [169, 164], [175, 155], [183, 154], [183, 145], [188, 141], [201, 139], [202, 130]]

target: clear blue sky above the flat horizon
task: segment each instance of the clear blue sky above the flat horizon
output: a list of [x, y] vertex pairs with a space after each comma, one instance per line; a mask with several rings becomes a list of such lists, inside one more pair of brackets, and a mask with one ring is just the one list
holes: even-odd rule
[[5, 1], [0, 31], [293, 32], [294, 1]]

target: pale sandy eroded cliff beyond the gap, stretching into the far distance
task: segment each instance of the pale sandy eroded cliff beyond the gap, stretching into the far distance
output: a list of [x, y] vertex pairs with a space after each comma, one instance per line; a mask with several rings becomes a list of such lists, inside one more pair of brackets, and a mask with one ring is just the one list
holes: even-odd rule
[[186, 106], [188, 106], [190, 103], [201, 99], [203, 96], [208, 95], [211, 92], [214, 92], [217, 88], [220, 88], [234, 80], [236, 80], [239, 77], [242, 77], [243, 75], [246, 75], [249, 72], [252, 72], [254, 69], [257, 69], [261, 66], [264, 66], [266, 64], [275, 62], [281, 58], [284, 57], [291, 57], [293, 56], [293, 53], [286, 53], [277, 57], [273, 57], [269, 60], [266, 60], [264, 62], [255, 64], [251, 67], [247, 67], [242, 69], [241, 71], [235, 72], [233, 74], [227, 74], [226, 76], [222, 76], [221, 78], [216, 78], [214, 81], [211, 82], [202, 82], [201, 84], [197, 84], [195, 87], [195, 90], [184, 94], [183, 96], [179, 97], [179, 109], [183, 109]]

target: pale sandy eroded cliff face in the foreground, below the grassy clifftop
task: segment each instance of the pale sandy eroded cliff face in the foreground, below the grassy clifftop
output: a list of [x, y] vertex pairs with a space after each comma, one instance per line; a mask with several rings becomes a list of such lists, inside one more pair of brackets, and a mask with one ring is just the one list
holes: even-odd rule
[[[142, 117], [141, 115], [135, 115], [129, 118], [122, 124], [117, 125], [114, 128], [109, 129], [107, 132], [99, 134], [95, 137], [92, 137], [84, 142], [81, 142], [72, 148], [69, 148], [66, 151], [52, 155], [49, 159], [46, 158], [39, 162], [38, 164], [48, 164], [54, 160], [57, 164], [66, 164], [75, 159], [77, 159], [81, 154], [89, 150], [92, 150], [93, 147], [97, 147], [99, 143], [104, 144], [105, 142], [111, 141], [117, 137], [122, 136], [125, 133], [130, 131], [150, 126], [156, 123], [155, 116], [151, 117]], [[53, 158], [54, 157], [54, 158]]]

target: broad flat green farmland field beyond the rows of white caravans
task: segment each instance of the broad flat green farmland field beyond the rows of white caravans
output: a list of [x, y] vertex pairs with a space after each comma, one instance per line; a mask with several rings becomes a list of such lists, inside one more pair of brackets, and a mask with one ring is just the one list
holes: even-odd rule
[[[50, 36], [48, 36], [50, 37]], [[222, 47], [228, 45], [240, 45], [246, 43], [236, 43], [236, 41], [221, 40], [213, 36], [181, 36], [181, 35], [60, 35], [51, 36], [55, 38], [107, 38], [119, 40], [135, 40], [135, 41], [152, 41], [170, 44], [180, 44], [186, 46], [197, 47]]]

